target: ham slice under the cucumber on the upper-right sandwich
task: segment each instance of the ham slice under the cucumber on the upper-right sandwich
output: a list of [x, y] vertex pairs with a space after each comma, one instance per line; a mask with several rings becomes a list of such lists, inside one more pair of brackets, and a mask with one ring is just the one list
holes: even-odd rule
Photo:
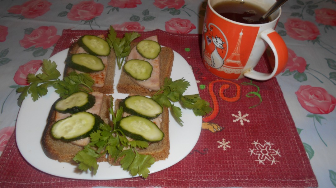
[[[158, 42], [158, 36], [156, 35], [150, 36], [148, 38], [145, 38], [145, 40], [154, 40]], [[138, 51], [136, 50], [136, 46], [135, 46], [129, 53], [127, 61], [135, 60], [135, 59], [148, 61], [153, 66], [153, 71], [149, 79], [141, 81], [141, 80], [135, 80], [132, 78], [133, 81], [143, 88], [153, 90], [153, 91], [160, 90], [160, 59], [159, 59], [159, 56], [153, 60], [146, 59], [138, 53]]]

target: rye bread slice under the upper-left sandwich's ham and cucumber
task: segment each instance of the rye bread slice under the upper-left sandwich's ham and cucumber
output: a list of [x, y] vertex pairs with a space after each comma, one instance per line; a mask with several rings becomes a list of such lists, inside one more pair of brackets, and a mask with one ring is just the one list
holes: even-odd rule
[[[103, 35], [99, 35], [100, 37], [105, 38]], [[77, 50], [80, 48], [79, 44], [77, 42], [73, 43], [68, 52], [68, 57], [72, 54], [76, 54]], [[99, 56], [98, 56], [99, 57]], [[114, 81], [114, 73], [116, 69], [116, 54], [114, 53], [114, 50], [111, 49], [111, 53], [108, 56], [108, 66], [106, 69], [106, 76], [105, 76], [105, 81], [104, 81], [104, 86], [103, 87], [92, 87], [93, 91], [98, 91], [103, 94], [112, 94], [114, 93], [113, 90], [113, 81]], [[68, 76], [69, 73], [75, 71], [73, 68], [65, 65], [64, 68], [64, 76]]]

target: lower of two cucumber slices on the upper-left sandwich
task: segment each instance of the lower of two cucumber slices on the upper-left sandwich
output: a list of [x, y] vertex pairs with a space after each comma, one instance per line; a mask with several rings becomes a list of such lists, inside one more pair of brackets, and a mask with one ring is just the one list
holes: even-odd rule
[[105, 68], [100, 58], [85, 53], [69, 56], [66, 63], [69, 67], [85, 73], [98, 72]]

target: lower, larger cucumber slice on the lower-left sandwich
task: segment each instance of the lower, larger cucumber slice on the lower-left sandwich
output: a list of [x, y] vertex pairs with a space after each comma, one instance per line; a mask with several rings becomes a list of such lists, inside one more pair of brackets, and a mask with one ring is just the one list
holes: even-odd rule
[[100, 123], [103, 120], [98, 115], [78, 112], [56, 121], [51, 127], [51, 135], [55, 139], [72, 142], [90, 136], [90, 133], [99, 128]]

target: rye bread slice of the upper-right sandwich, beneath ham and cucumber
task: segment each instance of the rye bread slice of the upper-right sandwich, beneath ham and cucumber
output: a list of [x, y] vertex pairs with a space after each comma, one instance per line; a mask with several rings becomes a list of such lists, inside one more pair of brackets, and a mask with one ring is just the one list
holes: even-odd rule
[[[131, 49], [137, 43], [131, 43]], [[160, 86], [164, 85], [164, 79], [170, 78], [171, 70], [174, 62], [174, 52], [169, 47], [162, 47], [159, 54], [160, 57]], [[119, 83], [117, 85], [119, 93], [130, 93], [143, 96], [153, 96], [157, 91], [149, 90], [139, 86], [130, 76], [128, 76], [122, 68]]]

